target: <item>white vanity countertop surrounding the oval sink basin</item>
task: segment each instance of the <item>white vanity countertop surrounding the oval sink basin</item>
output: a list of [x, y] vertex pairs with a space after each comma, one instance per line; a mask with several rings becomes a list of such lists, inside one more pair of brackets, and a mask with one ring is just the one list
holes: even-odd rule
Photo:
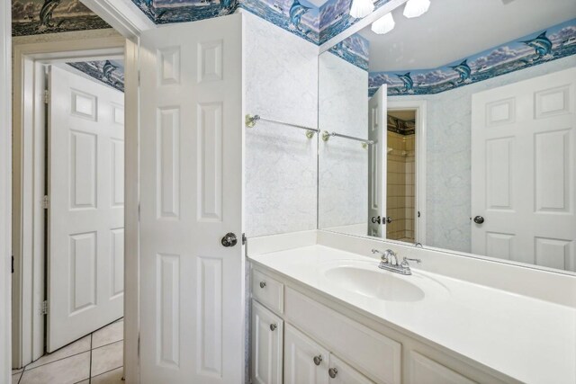
[[425, 290], [425, 299], [419, 301], [377, 299], [343, 288], [327, 279], [325, 272], [327, 265], [337, 263], [374, 263], [374, 270], [380, 271], [378, 260], [328, 246], [304, 246], [249, 259], [359, 308], [384, 325], [400, 327], [513, 379], [576, 382], [576, 308], [424, 272], [414, 265], [414, 274], [401, 279], [436, 281], [447, 294], [428, 295]]

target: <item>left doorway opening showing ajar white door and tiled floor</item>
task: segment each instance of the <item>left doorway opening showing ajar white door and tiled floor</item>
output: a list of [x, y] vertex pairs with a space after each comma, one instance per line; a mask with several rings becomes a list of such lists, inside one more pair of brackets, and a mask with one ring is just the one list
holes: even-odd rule
[[123, 68], [121, 53], [34, 63], [41, 257], [23, 274], [33, 274], [31, 301], [41, 309], [31, 314], [31, 362], [13, 382], [123, 377]]

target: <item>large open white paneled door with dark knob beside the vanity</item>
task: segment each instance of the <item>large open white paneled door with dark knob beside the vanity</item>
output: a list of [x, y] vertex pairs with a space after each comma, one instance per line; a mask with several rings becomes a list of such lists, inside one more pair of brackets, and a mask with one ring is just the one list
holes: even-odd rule
[[143, 383], [244, 380], [242, 69], [241, 14], [142, 34]]

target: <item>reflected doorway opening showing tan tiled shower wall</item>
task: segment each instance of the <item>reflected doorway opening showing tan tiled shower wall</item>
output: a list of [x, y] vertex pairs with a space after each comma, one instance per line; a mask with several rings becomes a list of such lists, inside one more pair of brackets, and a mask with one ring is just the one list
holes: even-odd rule
[[416, 111], [388, 111], [386, 238], [416, 242]]

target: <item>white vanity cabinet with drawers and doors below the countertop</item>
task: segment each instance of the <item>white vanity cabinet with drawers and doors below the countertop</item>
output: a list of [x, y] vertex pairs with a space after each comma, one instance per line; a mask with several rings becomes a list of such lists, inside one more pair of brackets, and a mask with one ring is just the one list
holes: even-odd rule
[[264, 268], [252, 269], [251, 287], [254, 383], [518, 382], [418, 336], [364, 319], [353, 308]]

